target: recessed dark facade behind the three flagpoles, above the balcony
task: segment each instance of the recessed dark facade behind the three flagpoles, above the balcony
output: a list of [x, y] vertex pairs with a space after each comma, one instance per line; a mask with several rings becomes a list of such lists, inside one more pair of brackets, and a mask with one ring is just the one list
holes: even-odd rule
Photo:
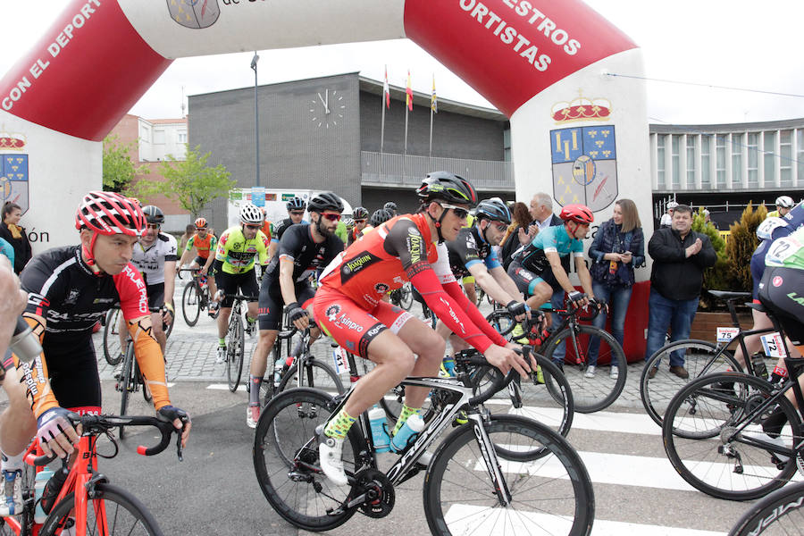
[[[360, 147], [380, 152], [381, 99], [360, 92]], [[506, 121], [439, 112], [432, 121], [432, 155], [472, 160], [504, 160]], [[405, 147], [405, 102], [391, 99], [385, 110], [382, 151], [401, 155]], [[415, 105], [407, 118], [407, 154], [427, 156], [430, 150], [430, 108]]]

